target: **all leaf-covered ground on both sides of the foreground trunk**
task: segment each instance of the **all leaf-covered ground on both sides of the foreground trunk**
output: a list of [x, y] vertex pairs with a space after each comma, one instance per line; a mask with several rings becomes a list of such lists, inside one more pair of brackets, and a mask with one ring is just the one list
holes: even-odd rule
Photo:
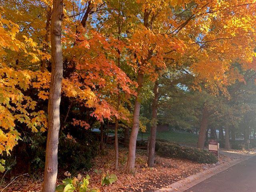
[[[82, 176], [90, 175], [90, 188], [98, 188], [101, 192], [153, 192], [158, 188], [166, 187], [178, 180], [203, 170], [203, 164], [189, 160], [162, 158], [156, 156], [156, 166], [147, 166], [146, 151], [137, 150], [136, 172], [124, 173], [126, 166], [127, 149], [121, 148], [119, 154], [119, 170], [114, 170], [114, 149], [108, 148], [106, 155], [100, 155], [94, 159], [94, 166], [89, 171], [81, 170]], [[224, 157], [222, 156], [223, 160]], [[59, 170], [58, 183], [65, 178], [64, 172], [72, 170]], [[116, 174], [118, 180], [109, 186], [101, 186], [102, 174]], [[43, 173], [36, 176], [20, 176], [5, 191], [40, 191], [42, 189]]]

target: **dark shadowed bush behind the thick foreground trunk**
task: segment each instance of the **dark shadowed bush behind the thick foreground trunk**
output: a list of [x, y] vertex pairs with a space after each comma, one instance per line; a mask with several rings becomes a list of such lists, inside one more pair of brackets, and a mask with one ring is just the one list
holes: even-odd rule
[[[74, 138], [73, 138], [73, 136]], [[74, 173], [78, 170], [88, 170], [92, 166], [92, 158], [98, 154], [98, 142], [94, 133], [84, 130], [80, 134], [60, 132], [58, 145], [58, 167]], [[76, 136], [76, 137], [75, 137]], [[32, 174], [44, 169], [46, 148], [46, 133], [22, 135], [22, 140], [12, 151], [11, 158], [6, 158], [6, 166], [17, 164], [12, 169], [18, 169], [26, 164], [26, 172]]]

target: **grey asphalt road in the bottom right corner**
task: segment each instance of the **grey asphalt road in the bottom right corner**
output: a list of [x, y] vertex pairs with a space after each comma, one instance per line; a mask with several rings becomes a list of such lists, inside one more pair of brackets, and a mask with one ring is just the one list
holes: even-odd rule
[[256, 156], [204, 180], [185, 192], [256, 192]]

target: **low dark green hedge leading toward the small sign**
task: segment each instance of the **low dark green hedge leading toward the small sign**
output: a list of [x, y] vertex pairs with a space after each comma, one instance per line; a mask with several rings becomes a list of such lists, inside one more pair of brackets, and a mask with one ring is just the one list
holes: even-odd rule
[[163, 157], [183, 158], [198, 163], [216, 163], [216, 156], [206, 150], [180, 146], [174, 142], [156, 141], [156, 152]]

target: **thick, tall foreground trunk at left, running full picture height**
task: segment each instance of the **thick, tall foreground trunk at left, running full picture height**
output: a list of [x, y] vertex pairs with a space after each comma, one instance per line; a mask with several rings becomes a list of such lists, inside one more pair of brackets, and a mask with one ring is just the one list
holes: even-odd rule
[[63, 1], [53, 0], [51, 23], [52, 75], [48, 98], [48, 133], [44, 166], [43, 192], [55, 192], [58, 173], [58, 142], [60, 130], [60, 98], [63, 78], [61, 24]]

